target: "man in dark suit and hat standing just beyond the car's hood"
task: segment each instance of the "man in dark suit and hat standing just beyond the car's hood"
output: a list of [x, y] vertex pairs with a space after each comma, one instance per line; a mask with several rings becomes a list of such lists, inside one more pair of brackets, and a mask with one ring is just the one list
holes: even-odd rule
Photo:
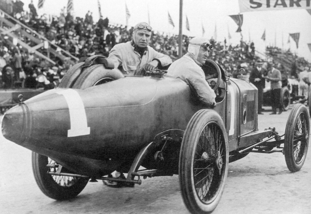
[[264, 69], [262, 69], [262, 60], [258, 59], [255, 63], [255, 66], [253, 67], [250, 76], [249, 81], [254, 84], [254, 86], [258, 89], [258, 114], [262, 113], [262, 100], [263, 100], [263, 89], [265, 87], [266, 79], [264, 78]]

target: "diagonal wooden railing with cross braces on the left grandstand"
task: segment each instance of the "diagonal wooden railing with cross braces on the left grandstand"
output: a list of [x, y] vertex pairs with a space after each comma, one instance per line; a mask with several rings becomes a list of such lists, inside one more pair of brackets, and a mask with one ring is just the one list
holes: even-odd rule
[[[0, 10], [0, 34], [2, 35], [7, 35], [11, 37], [11, 40], [7, 40], [7, 42], [10, 45], [13, 45], [13, 38], [17, 39], [17, 43], [20, 44], [23, 48], [27, 49], [28, 51], [33, 51], [37, 56], [44, 58], [45, 60], [49, 61], [52, 64], [56, 64], [53, 60], [49, 58], [49, 54], [52, 53], [55, 57], [60, 58], [61, 60], [66, 60], [66, 58], [70, 58], [73, 60], [75, 63], [79, 61], [79, 58], [73, 56], [71, 53], [68, 51], [62, 49], [56, 44], [53, 44], [51, 41], [49, 41], [47, 38], [44, 36], [40, 35], [37, 33], [35, 30], [32, 30], [30, 27], [24, 25], [20, 21], [16, 20], [14, 17], [10, 16], [6, 12]], [[9, 19], [14, 21], [16, 24], [12, 23]], [[6, 28], [3, 26], [3, 23], [5, 24]], [[30, 39], [33, 43], [36, 45], [30, 46], [23, 42], [20, 37], [21, 35], [16, 34], [16, 31], [19, 30], [21, 32], [21, 35], [27, 37]], [[44, 46], [44, 43], [48, 44], [48, 47], [46, 49], [47, 51], [47, 56], [45, 56], [43, 53], [39, 52], [41, 47]], [[60, 53], [58, 53], [58, 51]]]

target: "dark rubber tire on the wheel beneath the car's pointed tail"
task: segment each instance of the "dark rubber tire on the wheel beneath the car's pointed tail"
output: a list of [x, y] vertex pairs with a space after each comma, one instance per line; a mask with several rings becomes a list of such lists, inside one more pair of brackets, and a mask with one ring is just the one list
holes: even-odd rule
[[47, 174], [48, 157], [32, 152], [32, 171], [40, 190], [48, 197], [56, 200], [68, 200], [76, 197], [85, 188], [88, 178], [77, 178], [69, 187], [55, 182], [52, 175]]

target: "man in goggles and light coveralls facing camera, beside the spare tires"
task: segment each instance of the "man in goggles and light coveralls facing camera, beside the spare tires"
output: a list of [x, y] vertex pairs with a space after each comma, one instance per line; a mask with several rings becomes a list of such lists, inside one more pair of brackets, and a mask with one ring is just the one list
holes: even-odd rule
[[133, 29], [133, 39], [116, 44], [109, 53], [108, 60], [114, 63], [123, 74], [144, 75], [145, 71], [161, 68], [172, 63], [172, 59], [158, 53], [148, 44], [151, 39], [151, 26], [146, 22], [138, 23]]

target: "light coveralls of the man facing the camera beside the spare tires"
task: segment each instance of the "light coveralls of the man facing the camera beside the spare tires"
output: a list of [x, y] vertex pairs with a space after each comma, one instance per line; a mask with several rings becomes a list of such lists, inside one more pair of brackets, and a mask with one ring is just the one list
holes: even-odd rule
[[141, 75], [143, 66], [153, 59], [159, 60], [162, 66], [172, 63], [172, 59], [169, 56], [155, 51], [149, 45], [147, 48], [148, 50], [141, 57], [137, 51], [134, 51], [131, 41], [116, 44], [110, 50], [108, 59], [113, 61], [115, 68], [122, 66], [123, 71], [128, 75]]

